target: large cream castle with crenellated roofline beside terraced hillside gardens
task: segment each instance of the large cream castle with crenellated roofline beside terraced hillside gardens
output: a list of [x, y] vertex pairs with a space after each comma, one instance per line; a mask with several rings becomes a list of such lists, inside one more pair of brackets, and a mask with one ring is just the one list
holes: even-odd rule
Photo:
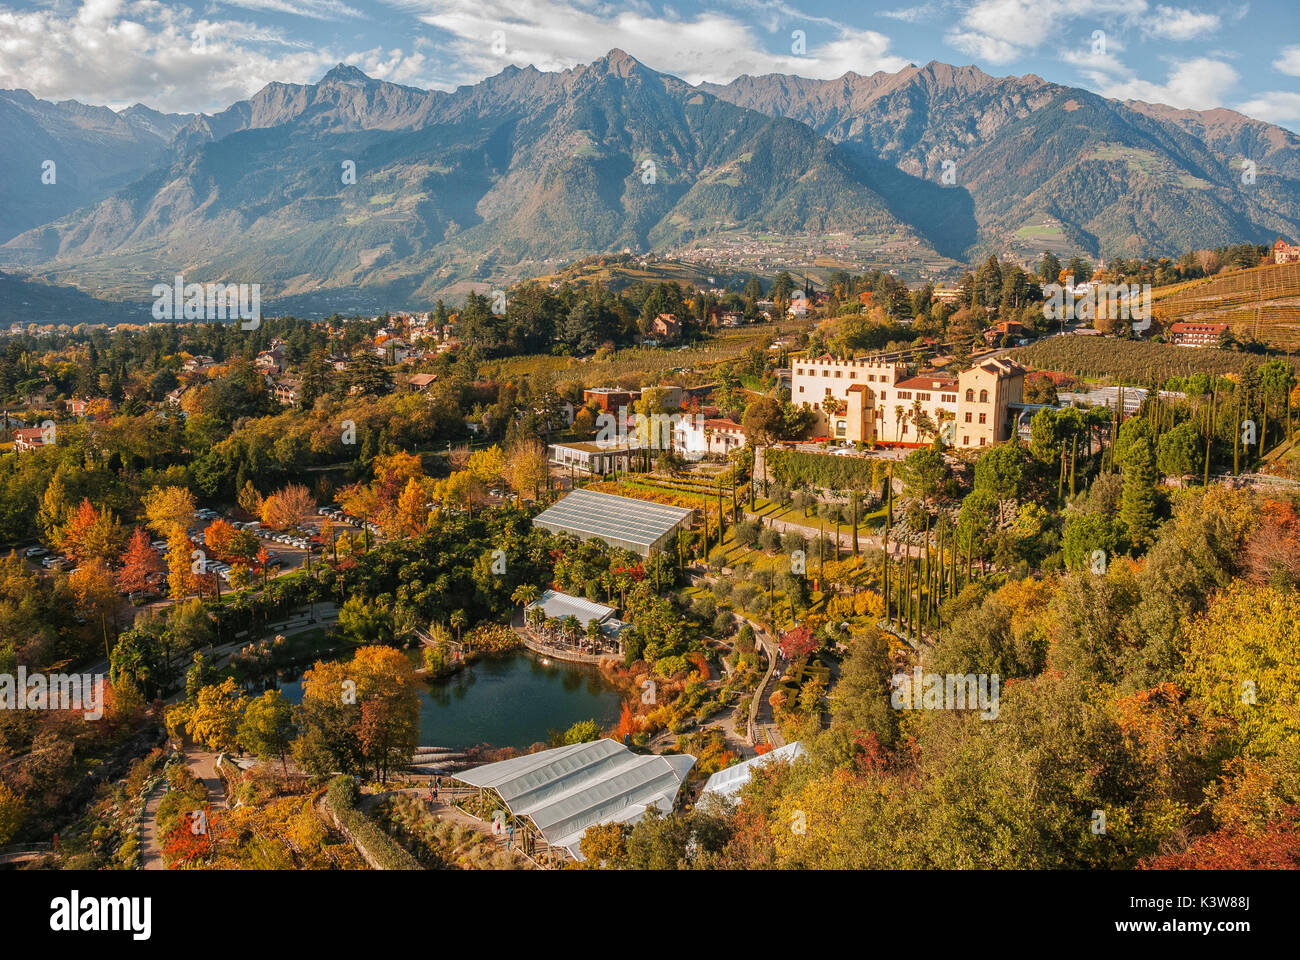
[[1010, 436], [1010, 403], [1023, 397], [1024, 368], [985, 360], [958, 376], [907, 376], [902, 363], [879, 359], [794, 360], [790, 401], [815, 414], [814, 436], [920, 446], [936, 432], [956, 447], [980, 447]]

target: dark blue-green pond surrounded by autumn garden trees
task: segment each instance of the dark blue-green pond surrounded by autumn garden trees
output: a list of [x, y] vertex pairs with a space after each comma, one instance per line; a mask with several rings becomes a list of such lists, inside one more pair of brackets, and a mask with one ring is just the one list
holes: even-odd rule
[[[294, 704], [303, 699], [300, 678], [280, 688]], [[419, 689], [420, 743], [456, 749], [545, 743], [578, 721], [614, 723], [621, 705], [595, 667], [543, 665], [526, 652], [485, 657], [446, 679], [420, 680]]]

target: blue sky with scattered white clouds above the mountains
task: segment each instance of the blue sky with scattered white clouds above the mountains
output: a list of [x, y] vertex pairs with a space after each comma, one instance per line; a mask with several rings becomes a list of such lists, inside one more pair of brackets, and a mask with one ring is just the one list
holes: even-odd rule
[[1300, 0], [0, 0], [0, 88], [214, 112], [337, 62], [452, 90], [619, 47], [697, 83], [940, 60], [1300, 133]]

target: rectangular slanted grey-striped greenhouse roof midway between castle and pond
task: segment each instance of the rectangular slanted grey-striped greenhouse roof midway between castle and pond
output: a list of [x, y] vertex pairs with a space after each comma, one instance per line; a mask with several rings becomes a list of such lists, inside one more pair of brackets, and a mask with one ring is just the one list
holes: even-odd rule
[[689, 527], [693, 515], [694, 510], [686, 507], [577, 489], [540, 513], [533, 523], [552, 533], [603, 540], [649, 557], [664, 549], [676, 531]]

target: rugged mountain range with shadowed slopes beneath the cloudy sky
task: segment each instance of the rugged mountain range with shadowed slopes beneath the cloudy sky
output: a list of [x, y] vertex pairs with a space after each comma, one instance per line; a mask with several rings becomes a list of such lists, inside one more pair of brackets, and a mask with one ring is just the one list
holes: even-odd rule
[[[0, 91], [0, 118], [22, 131], [0, 161], [32, 183], [0, 187], [0, 267], [133, 300], [183, 273], [416, 306], [728, 237], [837, 233], [970, 259], [1300, 233], [1286, 130], [939, 62], [692, 86], [611, 51], [452, 92], [341, 64], [214, 114]], [[57, 185], [39, 185], [44, 159]]]

